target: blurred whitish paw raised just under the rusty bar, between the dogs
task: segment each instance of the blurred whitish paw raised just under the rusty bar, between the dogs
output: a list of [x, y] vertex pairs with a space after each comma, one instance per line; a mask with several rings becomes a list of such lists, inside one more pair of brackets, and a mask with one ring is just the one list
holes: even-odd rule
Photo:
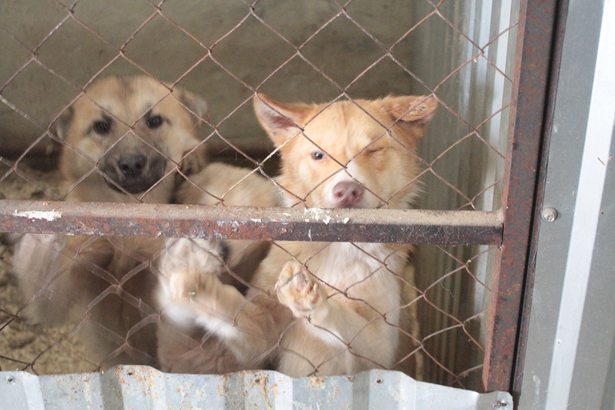
[[[165, 278], [167, 298], [191, 299], [211, 288], [224, 267], [218, 244], [192, 239], [167, 241], [160, 272]], [[164, 280], [164, 279], [163, 279]]]

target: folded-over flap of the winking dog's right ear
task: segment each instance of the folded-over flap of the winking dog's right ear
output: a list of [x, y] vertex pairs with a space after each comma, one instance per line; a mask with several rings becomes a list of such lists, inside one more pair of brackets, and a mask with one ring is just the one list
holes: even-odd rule
[[383, 103], [394, 121], [400, 120], [421, 127], [429, 124], [438, 108], [438, 101], [431, 95], [387, 97]]

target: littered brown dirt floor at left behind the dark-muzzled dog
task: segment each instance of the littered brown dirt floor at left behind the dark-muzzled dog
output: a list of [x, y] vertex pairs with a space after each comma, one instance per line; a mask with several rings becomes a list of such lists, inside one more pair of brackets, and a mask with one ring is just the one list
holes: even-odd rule
[[[2, 170], [4, 175], [6, 168]], [[57, 171], [42, 173], [21, 168], [0, 182], [0, 199], [56, 199]], [[1, 175], [0, 175], [1, 176]], [[96, 366], [85, 357], [78, 336], [71, 337], [75, 325], [54, 328], [30, 325], [22, 310], [26, 305], [12, 274], [14, 237], [2, 235], [0, 243], [0, 369], [25, 370], [37, 374], [82, 373]]]

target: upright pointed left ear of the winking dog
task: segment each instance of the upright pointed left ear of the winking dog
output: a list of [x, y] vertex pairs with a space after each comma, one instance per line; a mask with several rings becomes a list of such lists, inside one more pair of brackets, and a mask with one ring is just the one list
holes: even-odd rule
[[300, 132], [312, 106], [303, 103], [282, 104], [264, 94], [255, 95], [254, 112], [258, 122], [276, 146]]

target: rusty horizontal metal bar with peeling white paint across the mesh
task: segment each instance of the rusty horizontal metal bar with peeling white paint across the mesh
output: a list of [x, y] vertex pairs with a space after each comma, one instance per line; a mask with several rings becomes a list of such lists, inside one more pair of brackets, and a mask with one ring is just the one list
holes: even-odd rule
[[205, 207], [0, 200], [0, 231], [320, 242], [498, 245], [497, 212]]

